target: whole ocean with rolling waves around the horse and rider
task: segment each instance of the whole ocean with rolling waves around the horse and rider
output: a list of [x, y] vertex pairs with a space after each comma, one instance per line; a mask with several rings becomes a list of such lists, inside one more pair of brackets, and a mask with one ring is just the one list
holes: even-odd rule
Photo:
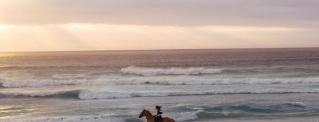
[[0, 122], [318, 122], [319, 48], [0, 53]]

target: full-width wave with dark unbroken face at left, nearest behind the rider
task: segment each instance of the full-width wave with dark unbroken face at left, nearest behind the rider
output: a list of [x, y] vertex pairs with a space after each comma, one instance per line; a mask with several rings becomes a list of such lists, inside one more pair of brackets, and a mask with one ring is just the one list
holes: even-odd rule
[[[0, 92], [0, 97], [61, 97], [77, 99], [121, 99], [134, 97], [164, 97], [186, 95], [212, 95], [212, 94], [281, 94], [281, 93], [319, 93], [319, 89], [313, 90], [223, 90], [223, 91], [37, 91], [37, 92]], [[298, 104], [298, 103], [293, 103]], [[301, 105], [301, 104], [299, 104]]]

